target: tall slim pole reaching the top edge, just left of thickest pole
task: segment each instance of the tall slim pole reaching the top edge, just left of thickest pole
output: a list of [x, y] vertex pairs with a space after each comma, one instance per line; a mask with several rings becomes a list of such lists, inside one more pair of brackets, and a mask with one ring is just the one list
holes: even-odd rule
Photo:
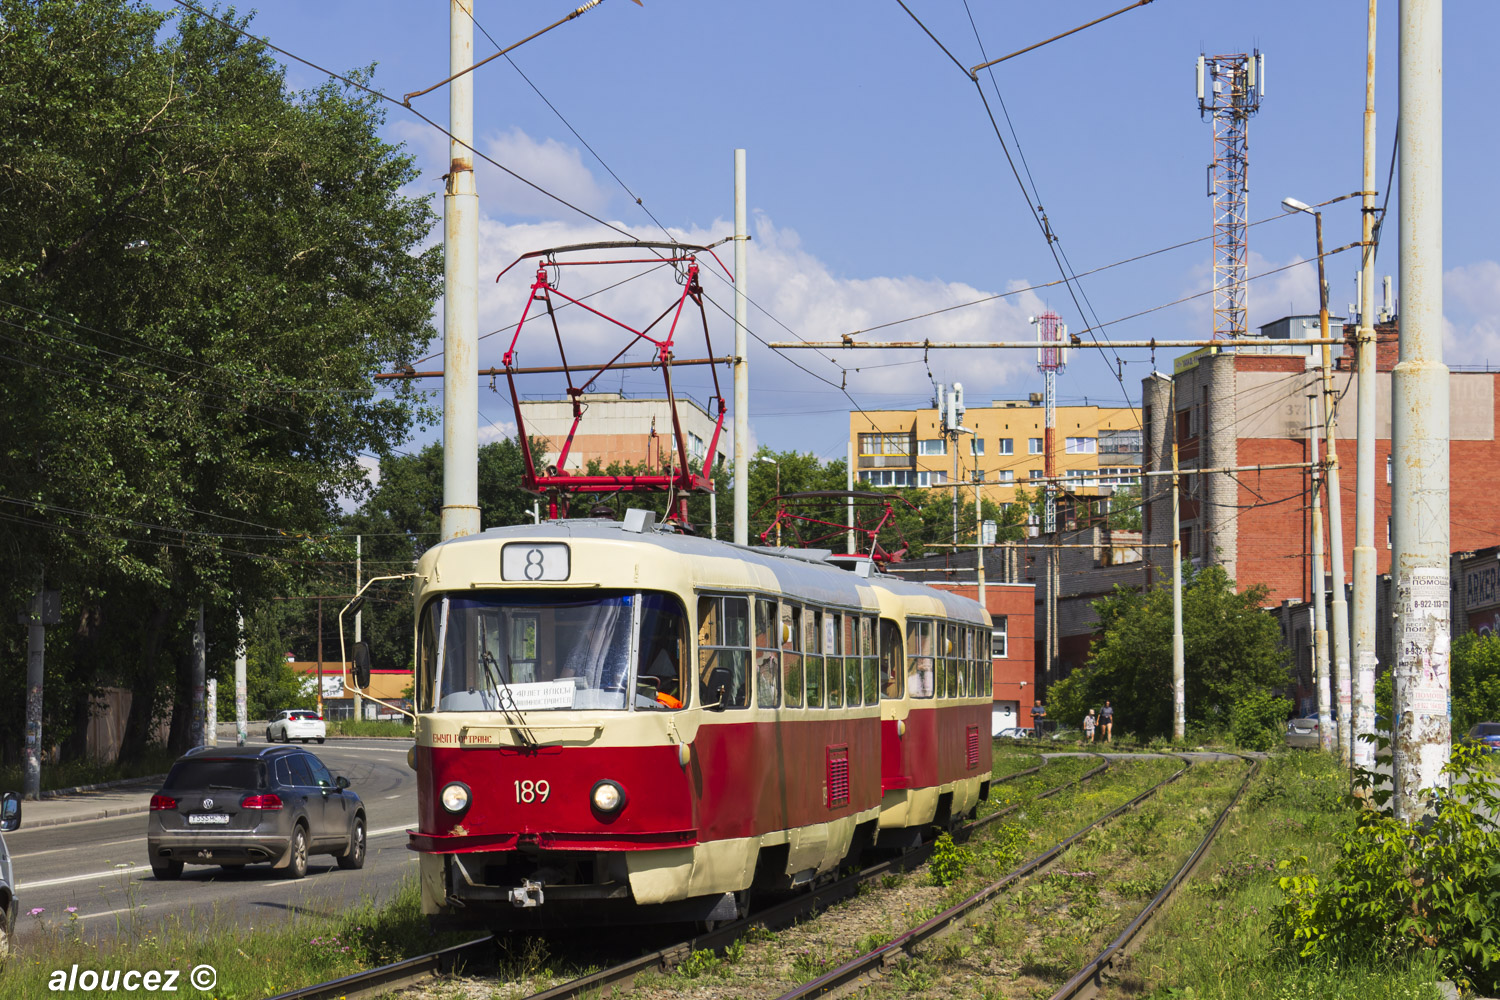
[[1376, 730], [1376, 6], [1365, 31], [1365, 184], [1360, 208], [1359, 330], [1354, 334], [1354, 766], [1376, 766], [1376, 748], [1359, 736]]

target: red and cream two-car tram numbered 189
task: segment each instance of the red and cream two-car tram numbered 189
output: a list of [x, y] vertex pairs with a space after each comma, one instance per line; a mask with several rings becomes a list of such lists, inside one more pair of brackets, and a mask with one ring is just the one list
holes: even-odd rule
[[423, 912], [718, 921], [970, 811], [988, 616], [656, 526], [561, 520], [417, 567]]

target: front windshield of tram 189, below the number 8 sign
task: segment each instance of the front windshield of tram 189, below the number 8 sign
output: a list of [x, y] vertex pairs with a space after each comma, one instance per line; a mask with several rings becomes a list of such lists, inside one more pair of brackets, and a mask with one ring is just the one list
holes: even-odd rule
[[[626, 709], [640, 675], [657, 675], [650, 708], [680, 708], [654, 696], [668, 687], [680, 651], [669, 633], [681, 603], [660, 594], [528, 591], [446, 595], [428, 604], [418, 636], [422, 708], [440, 712]], [[650, 646], [650, 648], [648, 648]], [[670, 652], [678, 652], [676, 658]], [[633, 699], [640, 702], [640, 697]], [[435, 703], [434, 703], [435, 702]]]

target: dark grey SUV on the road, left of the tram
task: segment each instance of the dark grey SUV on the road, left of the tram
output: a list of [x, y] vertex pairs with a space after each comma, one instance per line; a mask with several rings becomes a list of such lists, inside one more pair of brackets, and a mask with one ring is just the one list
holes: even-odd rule
[[364, 802], [350, 780], [291, 747], [231, 747], [190, 753], [152, 796], [146, 850], [162, 880], [183, 865], [243, 868], [270, 862], [290, 879], [308, 874], [309, 855], [362, 868]]

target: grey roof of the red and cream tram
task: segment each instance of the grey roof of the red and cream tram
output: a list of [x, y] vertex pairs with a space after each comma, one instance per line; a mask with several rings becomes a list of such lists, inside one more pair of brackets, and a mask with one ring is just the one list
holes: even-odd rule
[[[795, 594], [802, 600], [825, 604], [862, 604], [860, 589], [880, 588], [897, 597], [924, 597], [938, 600], [944, 612], [957, 621], [982, 624], [984, 613], [978, 601], [958, 597], [951, 591], [926, 586], [910, 580], [897, 580], [888, 576], [874, 574], [860, 577], [848, 570], [842, 570], [830, 562], [826, 549], [770, 549], [764, 546], [740, 546], [732, 541], [704, 538], [702, 535], [686, 535], [676, 531], [630, 531], [624, 522], [606, 519], [568, 519], [552, 520], [542, 525], [510, 525], [504, 528], [488, 528], [478, 535], [450, 538], [441, 541], [434, 549], [453, 544], [465, 544], [477, 540], [504, 538], [536, 538], [536, 540], [598, 540], [598, 541], [632, 541], [675, 552], [688, 558], [735, 558], [770, 570], [782, 589]], [[429, 550], [430, 552], [430, 550]]]

